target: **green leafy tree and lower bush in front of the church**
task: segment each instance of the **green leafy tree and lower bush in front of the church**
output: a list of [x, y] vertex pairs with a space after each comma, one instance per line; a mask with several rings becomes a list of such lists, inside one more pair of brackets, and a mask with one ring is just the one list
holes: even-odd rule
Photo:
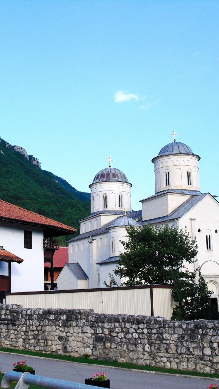
[[196, 261], [198, 245], [188, 231], [174, 226], [127, 228], [128, 240], [122, 242], [125, 252], [120, 255], [115, 274], [123, 285], [169, 284], [177, 302], [173, 320], [212, 318], [208, 291], [198, 269], [190, 272], [187, 267]]

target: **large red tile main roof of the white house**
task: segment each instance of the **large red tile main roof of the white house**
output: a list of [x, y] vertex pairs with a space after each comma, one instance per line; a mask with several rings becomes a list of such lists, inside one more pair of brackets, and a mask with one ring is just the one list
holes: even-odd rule
[[54, 228], [55, 230], [63, 231], [66, 233], [72, 233], [76, 231], [75, 228], [49, 219], [46, 216], [36, 214], [35, 212], [28, 211], [27, 209], [17, 207], [17, 205], [7, 203], [3, 200], [0, 200], [0, 219], [23, 222], [25, 224], [41, 226], [44, 228]]

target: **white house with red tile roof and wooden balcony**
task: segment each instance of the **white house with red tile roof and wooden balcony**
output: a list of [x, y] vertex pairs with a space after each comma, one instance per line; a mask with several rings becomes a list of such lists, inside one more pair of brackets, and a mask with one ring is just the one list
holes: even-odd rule
[[53, 267], [53, 236], [76, 230], [0, 200], [0, 300], [5, 292], [44, 290], [44, 262]]

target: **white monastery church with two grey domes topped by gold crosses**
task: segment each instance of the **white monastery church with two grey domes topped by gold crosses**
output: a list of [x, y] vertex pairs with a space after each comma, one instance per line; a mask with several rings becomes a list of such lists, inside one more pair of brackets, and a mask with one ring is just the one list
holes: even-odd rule
[[[94, 177], [91, 189], [90, 216], [80, 221], [78, 237], [69, 240], [69, 263], [57, 278], [61, 289], [104, 287], [110, 284], [127, 239], [126, 227], [140, 228], [145, 223], [175, 225], [189, 231], [198, 242], [201, 273], [219, 293], [219, 203], [210, 193], [201, 193], [200, 157], [189, 146], [174, 142], [162, 147], [152, 159], [155, 171], [155, 194], [141, 200], [142, 210], [132, 212], [131, 186], [124, 173], [111, 167]], [[115, 277], [118, 282], [120, 279]]]

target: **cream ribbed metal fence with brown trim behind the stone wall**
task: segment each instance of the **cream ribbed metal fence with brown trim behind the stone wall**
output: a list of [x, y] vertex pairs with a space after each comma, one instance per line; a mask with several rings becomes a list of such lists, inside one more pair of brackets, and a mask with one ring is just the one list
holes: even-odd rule
[[[153, 288], [154, 312], [157, 316], [170, 317], [173, 311], [171, 289], [157, 291]], [[36, 298], [37, 296], [37, 298]], [[22, 304], [24, 308], [81, 308], [94, 309], [96, 313], [151, 315], [150, 289], [108, 289], [74, 293], [21, 294], [7, 296], [7, 304]]]

